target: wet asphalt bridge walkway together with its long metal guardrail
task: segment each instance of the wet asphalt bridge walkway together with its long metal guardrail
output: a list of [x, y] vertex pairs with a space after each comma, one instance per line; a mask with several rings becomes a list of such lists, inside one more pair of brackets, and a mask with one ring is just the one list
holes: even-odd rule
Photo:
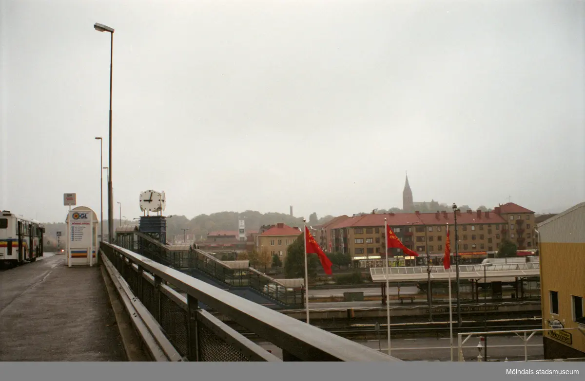
[[0, 361], [400, 361], [109, 243], [98, 266], [54, 255], [0, 283]]

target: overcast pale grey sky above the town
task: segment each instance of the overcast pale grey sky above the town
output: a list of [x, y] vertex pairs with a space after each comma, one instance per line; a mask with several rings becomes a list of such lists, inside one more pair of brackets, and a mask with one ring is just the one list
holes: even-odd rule
[[[1, 0], [0, 208], [352, 214], [585, 199], [585, 2]], [[105, 177], [105, 172], [104, 172]], [[107, 216], [104, 178], [104, 214]], [[118, 205], [115, 204], [118, 218]]]

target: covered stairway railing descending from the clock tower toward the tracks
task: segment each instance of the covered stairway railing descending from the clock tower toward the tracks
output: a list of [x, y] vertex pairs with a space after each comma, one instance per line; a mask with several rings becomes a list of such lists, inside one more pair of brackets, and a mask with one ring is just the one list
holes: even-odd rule
[[[277, 279], [252, 267], [232, 268], [213, 255], [190, 245], [179, 245], [179, 247], [164, 245], [137, 230], [121, 235], [122, 237], [119, 239], [121, 247], [139, 252], [163, 265], [192, 276], [197, 276], [198, 272], [202, 273], [226, 288], [247, 287], [253, 289], [254, 292], [284, 308], [304, 307], [303, 289], [287, 287], [278, 282]], [[132, 244], [132, 246], [127, 244]]]

